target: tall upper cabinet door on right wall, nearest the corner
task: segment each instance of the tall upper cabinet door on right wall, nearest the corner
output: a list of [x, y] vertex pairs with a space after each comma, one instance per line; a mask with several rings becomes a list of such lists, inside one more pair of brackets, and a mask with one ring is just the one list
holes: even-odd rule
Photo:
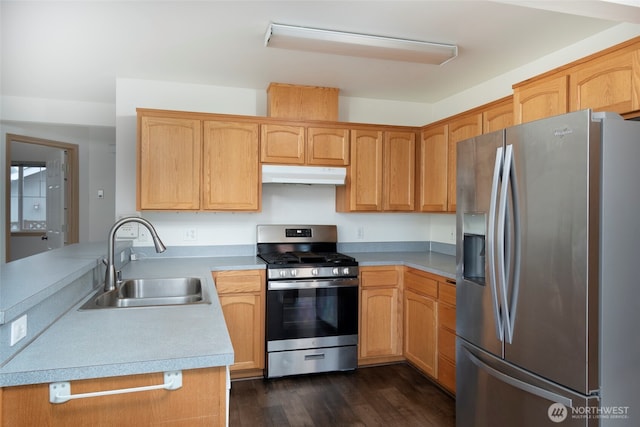
[[449, 128], [438, 125], [422, 130], [418, 146], [418, 210], [447, 210], [447, 141]]

